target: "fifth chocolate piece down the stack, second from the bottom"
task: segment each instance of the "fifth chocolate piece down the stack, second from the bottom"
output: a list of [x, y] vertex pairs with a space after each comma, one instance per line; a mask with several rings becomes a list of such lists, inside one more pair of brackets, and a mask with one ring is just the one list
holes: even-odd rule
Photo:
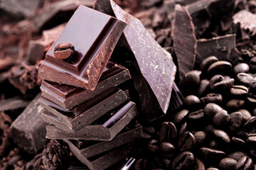
[[[119, 147], [129, 142], [134, 142], [135, 140], [138, 140], [141, 136], [142, 136], [142, 126], [139, 126], [137, 128], [134, 128], [132, 130], [129, 130], [127, 132], [117, 135], [110, 141], [98, 142], [98, 141], [82, 140], [82, 142], [84, 143], [89, 143], [83, 148], [79, 148], [78, 146], [76, 146], [74, 143], [75, 141], [69, 140], [69, 142], [72, 142], [73, 145], [75, 145], [75, 147], [79, 149], [82, 157], [89, 158], [97, 154], [107, 152], [110, 149]], [[64, 140], [64, 141], [66, 142], [67, 140]]]

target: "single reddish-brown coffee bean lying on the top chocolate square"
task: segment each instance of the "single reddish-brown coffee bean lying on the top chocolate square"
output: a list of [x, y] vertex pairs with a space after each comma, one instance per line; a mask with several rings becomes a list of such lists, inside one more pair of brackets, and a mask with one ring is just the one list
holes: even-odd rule
[[66, 60], [68, 57], [73, 55], [75, 48], [71, 42], [60, 42], [54, 47], [53, 55], [58, 60]]

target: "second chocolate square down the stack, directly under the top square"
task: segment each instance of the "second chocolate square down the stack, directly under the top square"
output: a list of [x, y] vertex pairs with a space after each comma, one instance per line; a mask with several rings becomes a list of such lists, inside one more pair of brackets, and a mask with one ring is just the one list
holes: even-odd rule
[[128, 69], [108, 62], [94, 91], [51, 81], [42, 81], [41, 91], [43, 97], [68, 110], [128, 79], [131, 79]]

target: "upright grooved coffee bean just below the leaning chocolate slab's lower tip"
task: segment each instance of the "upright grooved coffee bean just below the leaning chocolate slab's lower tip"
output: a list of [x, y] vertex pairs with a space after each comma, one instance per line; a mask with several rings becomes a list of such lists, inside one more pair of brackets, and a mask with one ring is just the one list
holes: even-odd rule
[[164, 122], [159, 132], [160, 142], [174, 142], [177, 136], [177, 129], [174, 123]]

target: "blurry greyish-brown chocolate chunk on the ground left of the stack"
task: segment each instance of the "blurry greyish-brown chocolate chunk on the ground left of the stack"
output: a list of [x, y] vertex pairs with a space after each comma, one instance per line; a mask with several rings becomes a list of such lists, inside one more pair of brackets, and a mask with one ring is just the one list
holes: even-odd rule
[[11, 137], [14, 142], [30, 154], [36, 154], [47, 141], [47, 123], [41, 118], [43, 107], [38, 103], [40, 96], [38, 94], [11, 124]]

